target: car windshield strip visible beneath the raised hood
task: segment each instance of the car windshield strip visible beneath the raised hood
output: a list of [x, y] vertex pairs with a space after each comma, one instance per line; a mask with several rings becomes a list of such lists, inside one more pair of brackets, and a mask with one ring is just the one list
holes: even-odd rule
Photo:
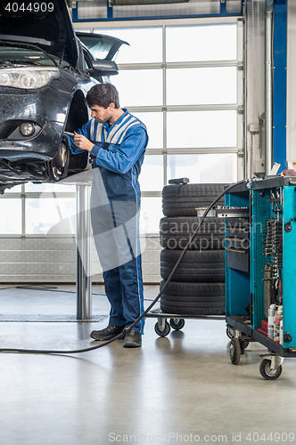
[[[60, 64], [60, 58], [51, 54], [56, 63]], [[20, 46], [0, 45], [0, 65], [35, 65], [37, 67], [55, 66], [49, 56], [42, 51], [31, 48], [22, 48]], [[69, 67], [67, 61], [62, 61], [62, 68]]]

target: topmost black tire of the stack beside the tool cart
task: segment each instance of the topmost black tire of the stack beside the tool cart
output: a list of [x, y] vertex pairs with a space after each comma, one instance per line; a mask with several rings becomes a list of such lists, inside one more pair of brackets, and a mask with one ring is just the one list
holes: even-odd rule
[[[166, 216], [194, 216], [196, 207], [210, 206], [225, 184], [167, 185], [162, 190], [162, 211]], [[224, 205], [224, 197], [217, 202]]]

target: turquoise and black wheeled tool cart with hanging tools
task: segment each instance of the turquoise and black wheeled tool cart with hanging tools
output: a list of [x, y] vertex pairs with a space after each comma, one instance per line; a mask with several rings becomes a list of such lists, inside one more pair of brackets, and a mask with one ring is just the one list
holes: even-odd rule
[[226, 218], [230, 359], [237, 365], [249, 342], [259, 342], [267, 347], [260, 373], [273, 380], [284, 358], [296, 357], [296, 177], [239, 184], [220, 212]]

